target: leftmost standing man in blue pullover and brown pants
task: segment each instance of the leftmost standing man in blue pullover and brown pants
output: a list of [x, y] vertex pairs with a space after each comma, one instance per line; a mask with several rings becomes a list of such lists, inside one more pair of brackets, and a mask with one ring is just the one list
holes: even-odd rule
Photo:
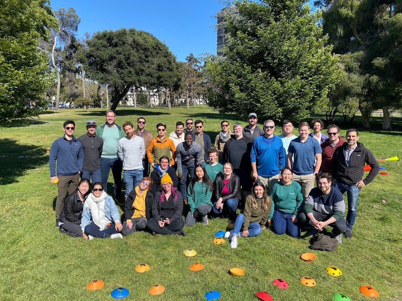
[[82, 144], [73, 136], [75, 122], [67, 120], [63, 124], [63, 130], [64, 135], [53, 141], [49, 153], [50, 183], [57, 183], [58, 190], [55, 207], [56, 227], [59, 227], [59, 216], [67, 192], [71, 194], [77, 190], [84, 165]]

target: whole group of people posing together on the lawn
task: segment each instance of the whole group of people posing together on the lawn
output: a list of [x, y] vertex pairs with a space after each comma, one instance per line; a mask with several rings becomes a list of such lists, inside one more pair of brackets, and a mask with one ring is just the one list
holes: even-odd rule
[[[308, 122], [300, 122], [299, 136], [293, 135], [291, 120], [283, 120], [277, 136], [273, 120], [260, 128], [257, 115], [250, 113], [248, 125], [236, 122], [233, 132], [223, 120], [211, 147], [201, 120], [178, 121], [169, 136], [166, 124], [158, 123], [154, 138], [145, 130], [144, 117], [137, 119], [136, 129], [131, 122], [119, 126], [115, 118], [115, 112], [107, 111], [100, 126], [88, 120], [87, 133], [79, 138], [73, 135], [74, 121], [68, 120], [64, 135], [50, 148], [50, 181], [58, 186], [56, 226], [70, 236], [113, 239], [145, 229], [153, 235], [185, 236], [185, 224], [207, 225], [213, 214], [228, 216], [232, 230], [225, 237], [232, 248], [239, 237], [256, 236], [267, 225], [292, 237], [300, 236], [302, 226], [312, 228], [309, 235], [330, 226], [342, 243], [341, 234], [352, 237], [360, 189], [379, 171], [356, 129], [347, 130], [345, 142], [334, 124], [326, 136], [320, 119], [311, 122], [312, 133]], [[363, 179], [365, 164], [371, 170]], [[110, 170], [115, 199], [124, 204], [123, 224], [107, 194]]]

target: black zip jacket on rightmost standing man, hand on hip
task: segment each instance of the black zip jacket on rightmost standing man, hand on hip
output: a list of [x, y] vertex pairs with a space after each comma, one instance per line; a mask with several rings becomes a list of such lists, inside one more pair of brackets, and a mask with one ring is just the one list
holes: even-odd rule
[[364, 185], [367, 185], [378, 174], [379, 165], [377, 161], [371, 151], [363, 146], [363, 143], [357, 142], [357, 146], [351, 156], [351, 164], [347, 167], [345, 159], [346, 147], [347, 142], [338, 146], [334, 151], [331, 162], [332, 177], [340, 183], [355, 185], [363, 178], [364, 165], [367, 163], [371, 167], [371, 171], [363, 180]]

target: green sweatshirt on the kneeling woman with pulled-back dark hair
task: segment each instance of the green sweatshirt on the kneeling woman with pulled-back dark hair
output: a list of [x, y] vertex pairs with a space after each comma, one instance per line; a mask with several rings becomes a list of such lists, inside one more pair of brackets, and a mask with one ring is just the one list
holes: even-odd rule
[[303, 194], [299, 183], [292, 181], [289, 185], [283, 185], [281, 181], [275, 183], [271, 190], [271, 199], [274, 205], [269, 214], [271, 220], [274, 210], [279, 210], [282, 213], [291, 213], [292, 216], [297, 216], [301, 212], [303, 206]]

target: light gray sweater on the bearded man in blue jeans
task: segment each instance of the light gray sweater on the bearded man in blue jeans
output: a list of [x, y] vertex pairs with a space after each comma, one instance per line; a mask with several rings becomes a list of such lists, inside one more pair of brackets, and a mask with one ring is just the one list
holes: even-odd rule
[[117, 144], [117, 155], [123, 161], [123, 170], [135, 170], [142, 168], [142, 158], [145, 155], [144, 139], [133, 136], [121, 138]]

